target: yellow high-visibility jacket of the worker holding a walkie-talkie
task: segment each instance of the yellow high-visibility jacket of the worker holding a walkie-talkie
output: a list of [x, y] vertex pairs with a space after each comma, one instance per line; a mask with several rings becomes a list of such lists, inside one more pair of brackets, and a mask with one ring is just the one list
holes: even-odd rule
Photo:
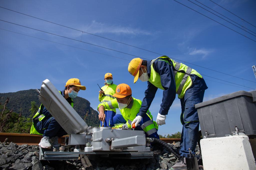
[[[101, 87], [101, 89], [104, 91], [105, 95], [100, 95], [99, 94], [99, 101], [102, 102], [108, 102], [110, 100], [115, 99], [112, 95], [115, 94], [115, 89], [116, 89], [116, 84], [110, 84], [109, 86], [105, 85]], [[106, 110], [112, 110], [113, 112], [116, 112], [115, 108], [114, 109], [106, 109]]]

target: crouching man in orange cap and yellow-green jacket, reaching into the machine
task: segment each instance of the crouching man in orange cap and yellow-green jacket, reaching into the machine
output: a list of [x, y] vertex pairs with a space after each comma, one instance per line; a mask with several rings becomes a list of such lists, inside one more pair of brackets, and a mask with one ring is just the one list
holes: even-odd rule
[[[121, 114], [116, 114], [113, 117], [114, 127], [119, 128], [126, 126], [126, 128], [131, 129], [132, 121], [136, 116], [138, 116], [140, 111], [141, 100], [132, 97], [132, 90], [127, 84], [119, 84], [116, 87], [113, 97], [116, 98], [99, 104], [99, 120], [103, 121], [105, 119], [105, 109], [110, 110], [113, 108], [119, 108]], [[140, 116], [140, 121], [137, 121], [136, 123], [136, 125], [139, 125], [136, 126], [135, 130], [144, 130], [146, 137], [159, 139], [157, 134], [158, 126], [156, 122], [153, 121], [153, 117], [149, 110], [147, 110], [147, 113], [143, 117]]]

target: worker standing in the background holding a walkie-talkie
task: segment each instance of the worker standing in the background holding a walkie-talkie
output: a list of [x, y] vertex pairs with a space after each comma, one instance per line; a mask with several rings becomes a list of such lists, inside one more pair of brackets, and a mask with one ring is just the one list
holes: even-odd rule
[[[99, 91], [99, 101], [102, 102], [108, 102], [112, 99], [115, 99], [115, 97], [113, 97], [112, 95], [115, 94], [115, 89], [116, 86], [115, 84], [113, 84], [113, 76], [111, 73], [106, 73], [105, 77], [105, 85], [103, 87], [100, 88]], [[113, 117], [115, 116], [116, 110], [114, 109], [106, 109], [104, 111], [105, 113], [105, 121], [103, 123], [103, 126], [106, 127], [112, 127], [113, 126]], [[102, 121], [100, 121], [100, 127], [102, 127]]]

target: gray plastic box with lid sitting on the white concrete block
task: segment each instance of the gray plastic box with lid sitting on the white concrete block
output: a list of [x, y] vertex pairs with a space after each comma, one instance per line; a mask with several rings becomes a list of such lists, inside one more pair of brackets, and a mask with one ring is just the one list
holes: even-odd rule
[[224, 137], [239, 132], [256, 137], [256, 90], [237, 91], [195, 105], [202, 136]]

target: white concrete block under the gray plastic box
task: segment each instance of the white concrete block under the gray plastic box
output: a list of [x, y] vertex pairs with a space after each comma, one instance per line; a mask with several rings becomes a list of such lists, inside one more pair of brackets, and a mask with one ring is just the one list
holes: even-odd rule
[[251, 169], [255, 160], [246, 135], [201, 139], [202, 160], [205, 170]]

